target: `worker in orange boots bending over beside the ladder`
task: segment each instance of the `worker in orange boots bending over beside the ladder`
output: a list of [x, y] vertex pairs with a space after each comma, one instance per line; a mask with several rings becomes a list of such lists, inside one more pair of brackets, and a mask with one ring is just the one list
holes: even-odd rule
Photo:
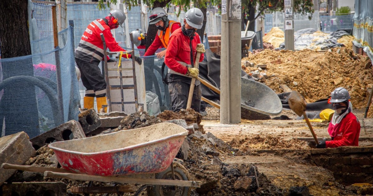
[[[112, 10], [105, 18], [91, 22], [82, 35], [75, 51], [75, 62], [81, 72], [82, 83], [87, 89], [84, 96], [84, 108], [93, 108], [94, 97], [96, 97], [97, 111], [99, 112], [104, 106], [106, 112], [106, 82], [100, 68], [98, 68], [98, 64], [104, 59], [104, 46], [100, 34], [103, 33], [106, 47], [110, 51], [126, 51], [119, 46], [110, 31], [119, 26], [122, 27], [125, 19], [126, 16], [122, 10]], [[131, 55], [128, 55], [128, 58], [131, 58]], [[142, 63], [140, 57], [135, 57], [135, 60], [139, 64]]]

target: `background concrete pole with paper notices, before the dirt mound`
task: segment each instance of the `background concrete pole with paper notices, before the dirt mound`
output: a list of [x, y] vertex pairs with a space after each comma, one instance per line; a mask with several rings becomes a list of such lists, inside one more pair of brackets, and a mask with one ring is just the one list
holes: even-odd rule
[[285, 50], [294, 51], [294, 17], [293, 1], [284, 0], [285, 10]]

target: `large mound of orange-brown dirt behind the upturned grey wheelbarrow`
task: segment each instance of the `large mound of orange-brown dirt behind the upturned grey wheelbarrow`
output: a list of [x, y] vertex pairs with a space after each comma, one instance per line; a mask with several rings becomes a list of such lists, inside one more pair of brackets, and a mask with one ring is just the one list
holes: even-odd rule
[[258, 68], [245, 67], [245, 61], [267, 65], [260, 72], [271, 77], [262, 78], [260, 82], [276, 93], [283, 93], [280, 85], [285, 84], [301, 93], [308, 103], [327, 98], [337, 87], [345, 87], [350, 92], [354, 108], [363, 108], [369, 97], [367, 88], [373, 84], [372, 71], [365, 69], [370, 59], [356, 55], [346, 47], [325, 53], [307, 49], [264, 50], [242, 59], [243, 69], [250, 73]]

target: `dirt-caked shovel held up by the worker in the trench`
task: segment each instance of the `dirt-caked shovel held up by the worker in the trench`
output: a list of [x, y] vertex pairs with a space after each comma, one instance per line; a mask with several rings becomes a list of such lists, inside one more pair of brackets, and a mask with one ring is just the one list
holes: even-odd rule
[[310, 128], [311, 134], [313, 136], [313, 139], [315, 140], [316, 144], [319, 144], [319, 141], [317, 141], [317, 137], [315, 132], [313, 131], [312, 125], [310, 121], [308, 120], [307, 115], [305, 114], [305, 105], [307, 102], [303, 99], [301, 94], [299, 94], [297, 91], [291, 91], [289, 95], [289, 106], [292, 111], [294, 111], [298, 116], [304, 116], [305, 122], [307, 122], [308, 128]]

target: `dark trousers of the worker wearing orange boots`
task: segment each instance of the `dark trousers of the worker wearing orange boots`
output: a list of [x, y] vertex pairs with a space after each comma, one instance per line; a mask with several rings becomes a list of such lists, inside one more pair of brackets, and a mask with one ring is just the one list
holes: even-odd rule
[[77, 58], [75, 58], [75, 62], [80, 70], [82, 83], [87, 89], [85, 91], [85, 96], [105, 97], [106, 81], [98, 65]]

